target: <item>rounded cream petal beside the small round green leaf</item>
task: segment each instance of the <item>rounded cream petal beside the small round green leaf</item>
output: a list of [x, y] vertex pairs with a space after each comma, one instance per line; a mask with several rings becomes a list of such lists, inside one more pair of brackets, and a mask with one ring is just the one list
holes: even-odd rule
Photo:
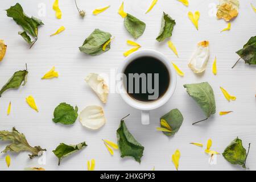
[[79, 114], [79, 121], [82, 126], [88, 129], [97, 130], [105, 125], [106, 118], [100, 106], [87, 106]]

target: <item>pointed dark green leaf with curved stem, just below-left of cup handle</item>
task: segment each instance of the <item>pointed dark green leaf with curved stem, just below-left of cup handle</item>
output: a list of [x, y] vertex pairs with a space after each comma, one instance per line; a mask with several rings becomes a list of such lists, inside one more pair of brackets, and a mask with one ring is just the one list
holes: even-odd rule
[[121, 120], [117, 130], [117, 143], [121, 153], [121, 158], [131, 156], [137, 162], [141, 163], [144, 147], [137, 142], [133, 135], [131, 135], [123, 119]]

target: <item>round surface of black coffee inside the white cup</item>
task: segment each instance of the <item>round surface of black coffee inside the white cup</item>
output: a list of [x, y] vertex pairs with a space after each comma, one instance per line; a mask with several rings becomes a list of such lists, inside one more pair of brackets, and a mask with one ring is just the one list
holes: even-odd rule
[[166, 65], [153, 56], [140, 56], [130, 61], [123, 71], [127, 94], [139, 102], [154, 102], [167, 92], [171, 77]]

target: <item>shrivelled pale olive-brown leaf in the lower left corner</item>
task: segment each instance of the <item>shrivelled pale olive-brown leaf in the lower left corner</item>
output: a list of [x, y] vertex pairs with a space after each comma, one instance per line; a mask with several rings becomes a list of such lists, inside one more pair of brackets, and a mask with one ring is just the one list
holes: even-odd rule
[[31, 152], [31, 155], [28, 156], [32, 159], [35, 156], [40, 155], [39, 152], [46, 151], [46, 149], [42, 149], [40, 146], [31, 147], [30, 144], [28, 144], [25, 135], [19, 133], [15, 127], [13, 127], [13, 131], [0, 131], [0, 140], [11, 142], [11, 144], [6, 146], [5, 150], [2, 151], [3, 153], [6, 153], [7, 151], [16, 153], [28, 151]]

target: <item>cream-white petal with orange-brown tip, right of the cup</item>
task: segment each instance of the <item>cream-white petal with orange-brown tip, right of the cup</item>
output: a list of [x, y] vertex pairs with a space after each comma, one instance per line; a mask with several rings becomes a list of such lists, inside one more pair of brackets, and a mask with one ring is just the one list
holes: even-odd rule
[[199, 42], [196, 52], [188, 63], [188, 67], [191, 68], [194, 73], [203, 73], [207, 67], [209, 56], [209, 41]]

